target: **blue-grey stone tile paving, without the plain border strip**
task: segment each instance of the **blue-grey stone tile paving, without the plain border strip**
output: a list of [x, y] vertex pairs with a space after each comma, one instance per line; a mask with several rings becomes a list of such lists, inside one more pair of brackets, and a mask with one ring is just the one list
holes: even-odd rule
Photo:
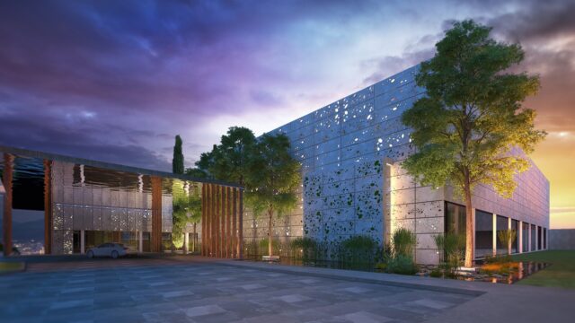
[[[107, 259], [0, 276], [5, 322], [418, 322], [473, 296], [210, 263]], [[104, 263], [108, 266], [102, 266]], [[131, 264], [131, 266], [130, 266]], [[33, 270], [35, 268], [35, 270]], [[54, 268], [51, 268], [54, 269]]]

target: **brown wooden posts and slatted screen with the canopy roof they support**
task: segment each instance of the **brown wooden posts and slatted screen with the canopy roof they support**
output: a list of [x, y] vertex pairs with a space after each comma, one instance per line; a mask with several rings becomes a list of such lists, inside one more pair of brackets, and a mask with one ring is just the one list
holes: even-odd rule
[[243, 188], [218, 181], [193, 179], [185, 175], [164, 173], [155, 170], [143, 170], [123, 165], [76, 159], [50, 153], [32, 152], [12, 147], [0, 146], [3, 152], [4, 217], [3, 237], [4, 255], [12, 253], [12, 210], [13, 210], [13, 172], [14, 159], [18, 156], [37, 158], [43, 161], [44, 171], [44, 252], [52, 253], [54, 231], [53, 216], [53, 161], [74, 162], [102, 169], [128, 171], [149, 176], [151, 182], [150, 250], [162, 251], [162, 196], [163, 179], [173, 178], [193, 180], [201, 185], [201, 255], [216, 258], [243, 258]]

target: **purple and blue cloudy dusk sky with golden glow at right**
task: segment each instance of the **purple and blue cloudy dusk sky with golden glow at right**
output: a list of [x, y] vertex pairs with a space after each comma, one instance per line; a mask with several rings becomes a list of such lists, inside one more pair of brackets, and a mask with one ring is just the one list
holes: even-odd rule
[[452, 22], [520, 42], [549, 135], [551, 227], [575, 228], [575, 0], [0, 2], [0, 144], [171, 170], [434, 55]]

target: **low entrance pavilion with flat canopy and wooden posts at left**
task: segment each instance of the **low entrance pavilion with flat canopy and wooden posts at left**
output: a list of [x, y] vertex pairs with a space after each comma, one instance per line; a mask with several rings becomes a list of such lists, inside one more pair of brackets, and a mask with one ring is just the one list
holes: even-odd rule
[[30, 231], [39, 232], [43, 254], [81, 254], [104, 242], [171, 249], [174, 197], [195, 196], [200, 206], [189, 212], [199, 221], [185, 228], [183, 251], [242, 257], [243, 188], [235, 185], [6, 146], [0, 175], [4, 253]]

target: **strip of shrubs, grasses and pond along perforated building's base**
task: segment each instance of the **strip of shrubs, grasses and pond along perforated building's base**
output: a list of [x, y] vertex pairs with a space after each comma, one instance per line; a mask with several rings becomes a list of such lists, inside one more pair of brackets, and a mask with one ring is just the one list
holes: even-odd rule
[[[511, 244], [514, 231], [502, 231], [503, 244]], [[463, 234], [447, 233], [435, 236], [439, 254], [438, 265], [417, 265], [413, 259], [415, 235], [406, 229], [394, 232], [391, 243], [384, 248], [369, 236], [352, 236], [339, 244], [328, 244], [310, 238], [296, 238], [282, 243], [272, 241], [272, 252], [279, 257], [273, 262], [282, 265], [320, 266], [336, 269], [373, 271], [400, 275], [419, 275], [436, 278], [461, 279], [500, 284], [514, 284], [549, 265], [553, 270], [539, 274], [541, 278], [525, 284], [575, 288], [575, 251], [542, 251], [520, 256], [497, 255], [483, 258], [473, 268], [463, 268], [465, 239]], [[269, 241], [244, 242], [245, 258], [265, 260], [269, 255]], [[571, 277], [571, 278], [570, 278]], [[571, 281], [570, 281], [571, 279]], [[530, 283], [534, 282], [534, 283]]]

